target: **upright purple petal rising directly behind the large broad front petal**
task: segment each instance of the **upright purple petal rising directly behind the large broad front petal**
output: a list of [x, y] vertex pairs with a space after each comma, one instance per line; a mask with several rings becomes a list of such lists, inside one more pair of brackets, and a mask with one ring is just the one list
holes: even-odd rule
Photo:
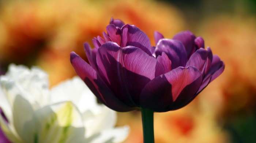
[[151, 54], [151, 44], [148, 36], [136, 26], [126, 24], [122, 27], [121, 47], [134, 46], [142, 49], [148, 55]]

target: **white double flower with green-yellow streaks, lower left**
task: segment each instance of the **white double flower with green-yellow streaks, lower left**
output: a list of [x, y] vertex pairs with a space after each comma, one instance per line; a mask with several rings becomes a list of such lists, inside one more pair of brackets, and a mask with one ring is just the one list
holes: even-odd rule
[[114, 128], [116, 112], [98, 104], [78, 77], [49, 90], [48, 75], [10, 65], [0, 77], [0, 125], [13, 143], [118, 143], [129, 128]]

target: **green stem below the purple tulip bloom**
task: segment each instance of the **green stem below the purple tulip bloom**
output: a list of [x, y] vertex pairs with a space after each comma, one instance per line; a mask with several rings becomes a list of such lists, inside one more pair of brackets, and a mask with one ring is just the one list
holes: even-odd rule
[[141, 108], [144, 143], [154, 143], [154, 112]]

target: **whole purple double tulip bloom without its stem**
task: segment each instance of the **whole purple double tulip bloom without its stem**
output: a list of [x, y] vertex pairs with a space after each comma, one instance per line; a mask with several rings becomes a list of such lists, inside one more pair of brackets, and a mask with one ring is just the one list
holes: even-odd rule
[[76, 73], [109, 108], [125, 112], [146, 108], [167, 112], [190, 103], [224, 70], [202, 37], [190, 31], [173, 39], [155, 32], [156, 46], [138, 27], [111, 19], [103, 38], [84, 44], [89, 63], [74, 52]]

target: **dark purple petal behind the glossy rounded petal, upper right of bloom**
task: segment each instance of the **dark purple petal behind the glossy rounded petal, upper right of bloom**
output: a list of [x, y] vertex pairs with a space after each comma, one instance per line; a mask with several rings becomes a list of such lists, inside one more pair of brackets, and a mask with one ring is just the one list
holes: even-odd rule
[[184, 45], [188, 58], [195, 52], [195, 39], [196, 36], [190, 31], [180, 32], [173, 37], [173, 40], [178, 40]]

